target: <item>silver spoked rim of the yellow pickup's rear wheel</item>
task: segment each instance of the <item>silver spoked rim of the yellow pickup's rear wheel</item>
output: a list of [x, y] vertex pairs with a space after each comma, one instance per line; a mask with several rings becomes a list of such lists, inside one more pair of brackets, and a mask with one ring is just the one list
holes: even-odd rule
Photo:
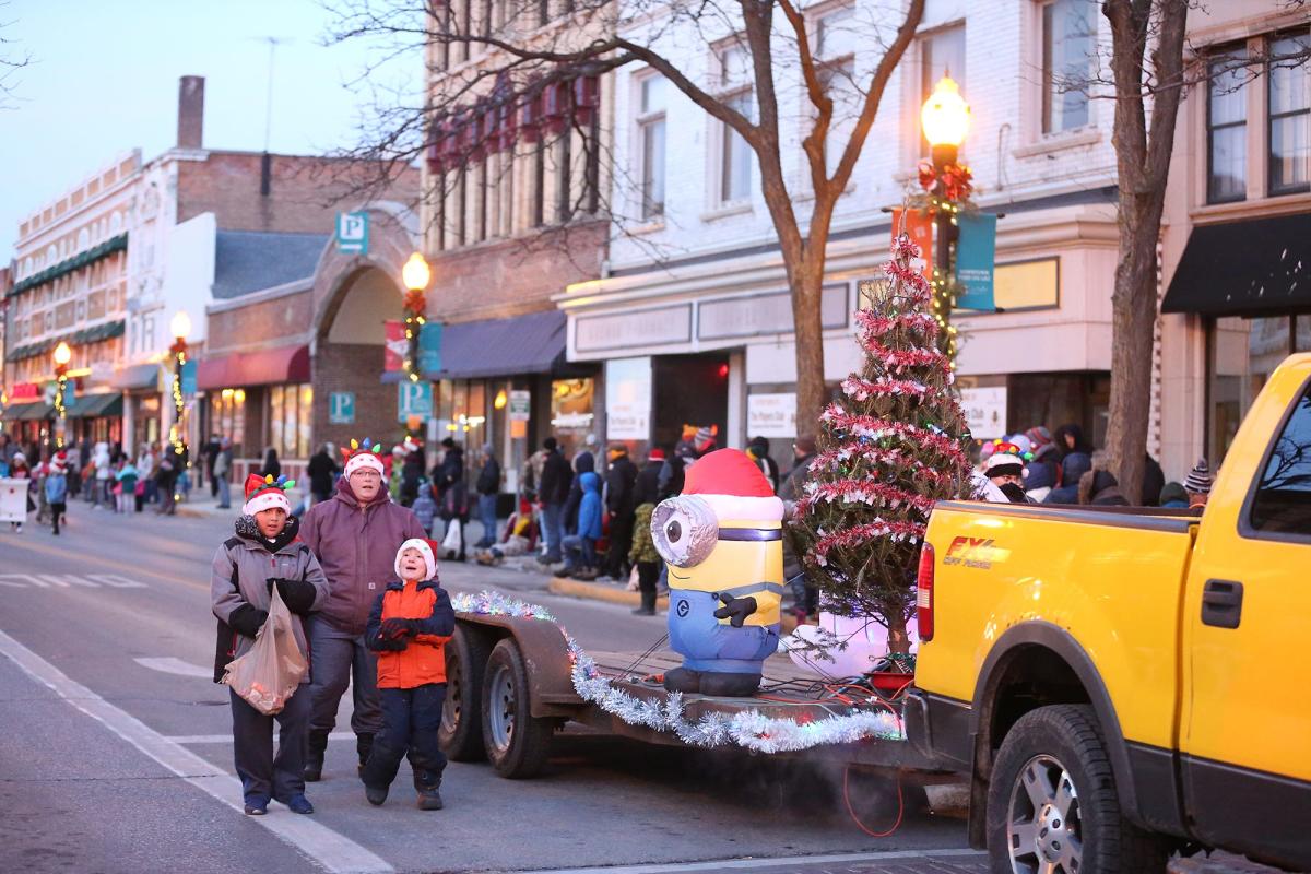
[[1011, 786], [1007, 849], [1015, 874], [1079, 874], [1083, 819], [1074, 777], [1053, 756], [1029, 759]]

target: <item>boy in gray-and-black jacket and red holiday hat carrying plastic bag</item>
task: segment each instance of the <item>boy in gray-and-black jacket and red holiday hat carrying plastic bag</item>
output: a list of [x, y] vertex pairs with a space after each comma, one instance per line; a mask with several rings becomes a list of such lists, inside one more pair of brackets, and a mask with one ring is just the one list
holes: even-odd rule
[[[214, 553], [210, 599], [219, 620], [214, 654], [214, 681], [223, 680], [224, 668], [254, 646], [260, 628], [269, 618], [273, 587], [291, 611], [296, 645], [309, 649], [302, 617], [328, 600], [328, 578], [309, 548], [300, 542], [300, 525], [290, 516], [287, 489], [295, 485], [284, 477], [246, 478], [246, 502], [236, 522], [236, 536]], [[309, 677], [287, 698], [275, 715], [265, 715], [232, 696], [232, 742], [237, 777], [245, 795], [245, 812], [261, 816], [269, 799], [282, 802], [296, 814], [312, 814], [305, 798], [305, 739], [309, 730]], [[273, 756], [273, 723], [282, 727], [278, 757]]]

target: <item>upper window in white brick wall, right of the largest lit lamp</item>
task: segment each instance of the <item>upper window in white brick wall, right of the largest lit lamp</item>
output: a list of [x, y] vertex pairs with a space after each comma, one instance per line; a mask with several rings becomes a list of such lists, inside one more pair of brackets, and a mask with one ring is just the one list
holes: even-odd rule
[[1097, 51], [1097, 4], [1054, 0], [1042, 7], [1042, 132], [1088, 123], [1087, 83]]

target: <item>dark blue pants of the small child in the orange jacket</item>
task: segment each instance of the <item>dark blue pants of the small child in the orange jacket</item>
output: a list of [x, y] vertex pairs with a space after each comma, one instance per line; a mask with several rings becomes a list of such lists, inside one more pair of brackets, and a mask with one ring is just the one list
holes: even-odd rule
[[442, 727], [444, 683], [427, 683], [413, 689], [379, 689], [383, 730], [374, 738], [368, 761], [359, 773], [371, 789], [385, 789], [396, 780], [401, 759], [409, 753], [414, 788], [437, 789], [446, 769], [446, 755], [437, 743]]

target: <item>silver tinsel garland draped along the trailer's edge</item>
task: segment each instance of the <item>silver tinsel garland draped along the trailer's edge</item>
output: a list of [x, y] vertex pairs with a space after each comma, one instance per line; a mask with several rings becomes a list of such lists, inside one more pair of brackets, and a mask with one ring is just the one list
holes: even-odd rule
[[[545, 620], [560, 625], [543, 607], [528, 604], [499, 592], [455, 595], [451, 604], [458, 613], [484, 616], [518, 616]], [[759, 710], [742, 710], [733, 715], [708, 713], [696, 722], [683, 714], [683, 696], [670, 692], [663, 700], [640, 698], [617, 688], [610, 677], [597, 671], [597, 663], [578, 642], [560, 626], [573, 663], [570, 675], [578, 697], [619, 717], [628, 725], [669, 731], [694, 747], [737, 744], [754, 752], [796, 752], [830, 743], [855, 743], [868, 738], [905, 740], [901, 719], [891, 710], [869, 710], [796, 722], [767, 717]]]

